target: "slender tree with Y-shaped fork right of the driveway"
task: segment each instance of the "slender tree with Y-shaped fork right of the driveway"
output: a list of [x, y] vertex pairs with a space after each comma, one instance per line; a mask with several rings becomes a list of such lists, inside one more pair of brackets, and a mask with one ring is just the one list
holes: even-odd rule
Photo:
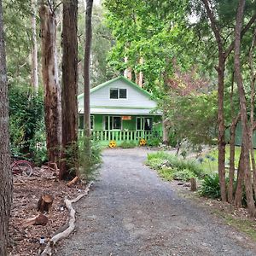
[[[212, 0], [201, 0], [204, 4], [204, 8], [207, 13], [207, 17], [210, 20], [210, 26], [215, 37], [216, 44], [218, 46], [218, 66], [216, 70], [218, 72], [218, 175], [219, 183], [221, 187], [221, 198], [223, 201], [227, 200], [226, 196], [226, 185], [225, 185], [225, 139], [224, 139], [224, 78], [225, 78], [225, 69], [226, 61], [230, 56], [230, 53], [234, 49], [234, 41], [230, 42], [230, 35], [233, 34], [233, 30], [228, 33], [228, 36], [224, 34], [224, 27], [233, 26], [233, 15], [236, 12], [225, 13], [224, 1], [212, 1]], [[224, 5], [222, 5], [224, 4]], [[235, 3], [234, 3], [235, 4]], [[221, 20], [227, 17], [227, 20]], [[241, 38], [247, 32], [247, 30], [252, 26], [254, 20], [256, 19], [255, 12], [248, 20], [247, 25], [241, 30]], [[225, 23], [226, 21], [226, 23]], [[243, 172], [241, 168], [240, 172]]]

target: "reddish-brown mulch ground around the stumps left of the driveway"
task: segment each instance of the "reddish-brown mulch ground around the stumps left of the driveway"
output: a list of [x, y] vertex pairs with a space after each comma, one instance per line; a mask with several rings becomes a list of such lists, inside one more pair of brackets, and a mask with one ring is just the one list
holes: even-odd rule
[[[84, 190], [84, 184], [67, 187], [67, 182], [59, 181], [57, 173], [47, 166], [33, 168], [32, 176], [14, 175], [14, 194], [9, 222], [9, 255], [38, 255], [49, 239], [68, 221], [65, 197], [73, 199]], [[26, 219], [38, 215], [38, 200], [44, 193], [54, 196], [52, 208], [44, 212], [49, 222], [46, 225], [23, 227]], [[40, 245], [40, 238], [45, 243]]]

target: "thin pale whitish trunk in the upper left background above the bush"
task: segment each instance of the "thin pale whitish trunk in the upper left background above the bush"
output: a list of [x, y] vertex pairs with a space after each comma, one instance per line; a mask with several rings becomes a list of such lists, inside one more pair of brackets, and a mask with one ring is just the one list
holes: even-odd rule
[[38, 92], [37, 4], [32, 0], [32, 87]]

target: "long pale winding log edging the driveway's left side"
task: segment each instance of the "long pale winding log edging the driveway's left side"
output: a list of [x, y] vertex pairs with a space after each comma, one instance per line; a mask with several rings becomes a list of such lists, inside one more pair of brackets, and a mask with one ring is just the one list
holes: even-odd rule
[[47, 243], [44, 251], [40, 254], [41, 256], [51, 256], [52, 255], [52, 249], [55, 246], [57, 241], [60, 241], [63, 238], [67, 238], [67, 236], [69, 236], [73, 230], [75, 229], [75, 210], [72, 206], [73, 203], [79, 201], [82, 197], [84, 197], [85, 195], [88, 195], [89, 191], [90, 191], [90, 187], [93, 184], [93, 182], [90, 182], [86, 188], [84, 189], [84, 193], [77, 196], [76, 198], [74, 198], [73, 200], [68, 200], [67, 198], [65, 198], [65, 204], [66, 207], [69, 211], [69, 221], [68, 221], [68, 226], [66, 230], [61, 231], [61, 233], [56, 234], [55, 236], [53, 236], [49, 242]]

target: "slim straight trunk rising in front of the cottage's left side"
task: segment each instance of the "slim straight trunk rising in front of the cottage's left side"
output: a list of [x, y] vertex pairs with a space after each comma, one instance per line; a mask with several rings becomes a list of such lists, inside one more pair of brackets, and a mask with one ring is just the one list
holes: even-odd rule
[[84, 52], [84, 136], [90, 137], [90, 45], [93, 0], [86, 0]]

